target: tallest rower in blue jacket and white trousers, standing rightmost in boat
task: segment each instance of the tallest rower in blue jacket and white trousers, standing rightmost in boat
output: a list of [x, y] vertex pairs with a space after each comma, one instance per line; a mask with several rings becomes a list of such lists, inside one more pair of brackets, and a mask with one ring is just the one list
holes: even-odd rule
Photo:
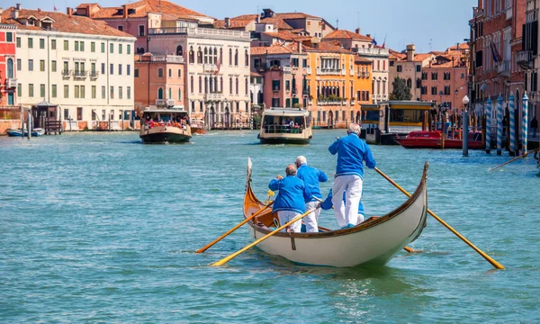
[[[364, 221], [363, 215], [358, 215], [358, 204], [362, 199], [364, 161], [365, 165], [376, 166], [371, 149], [365, 141], [360, 139], [360, 125], [351, 123], [347, 136], [336, 139], [330, 145], [332, 155], [338, 154], [336, 178], [332, 187], [334, 193], [332, 204], [340, 228], [351, 228]], [[343, 202], [343, 193], [346, 193], [346, 202]]]

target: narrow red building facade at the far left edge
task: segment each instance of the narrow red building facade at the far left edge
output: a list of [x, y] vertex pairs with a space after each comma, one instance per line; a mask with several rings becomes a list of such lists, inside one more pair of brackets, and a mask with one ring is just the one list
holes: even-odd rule
[[[11, 35], [12, 41], [8, 41], [8, 33]], [[8, 87], [8, 60], [11, 60], [13, 66], [12, 79], [17, 78], [17, 60], [15, 56], [15, 40], [16, 29], [11, 25], [0, 24], [0, 106], [8, 105], [10, 98], [13, 99], [12, 104], [17, 103], [16, 87]], [[1, 133], [1, 132], [0, 132]]]

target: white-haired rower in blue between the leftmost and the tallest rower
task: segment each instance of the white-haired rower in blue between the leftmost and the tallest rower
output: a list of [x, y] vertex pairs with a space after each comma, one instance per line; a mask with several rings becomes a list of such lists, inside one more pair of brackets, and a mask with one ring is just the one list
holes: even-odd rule
[[[308, 160], [306, 157], [296, 157], [295, 164], [296, 167], [298, 167], [296, 176], [308, 184], [308, 187], [310, 188], [311, 199], [306, 202], [306, 211], [310, 211], [311, 209], [316, 208], [319, 204], [319, 200], [316, 198], [322, 199], [322, 194], [320, 194], [320, 183], [329, 181], [329, 177], [323, 171], [320, 171], [315, 167], [308, 166]], [[317, 209], [304, 218], [307, 233], [319, 232], [319, 226], [317, 225], [319, 215], [320, 209]]]

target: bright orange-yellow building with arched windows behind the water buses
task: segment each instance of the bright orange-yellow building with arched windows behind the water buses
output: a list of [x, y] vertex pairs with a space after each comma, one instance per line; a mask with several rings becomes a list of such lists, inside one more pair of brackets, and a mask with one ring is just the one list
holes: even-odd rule
[[339, 46], [321, 41], [304, 47], [308, 53], [308, 110], [313, 126], [341, 128], [361, 121], [361, 105], [371, 103], [372, 61]]

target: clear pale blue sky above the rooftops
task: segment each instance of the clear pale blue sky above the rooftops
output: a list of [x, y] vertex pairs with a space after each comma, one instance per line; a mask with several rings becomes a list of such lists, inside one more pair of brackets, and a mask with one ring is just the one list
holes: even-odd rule
[[[10, 0], [2, 0], [7, 7]], [[23, 8], [66, 12], [66, 7], [76, 7], [92, 0], [12, 0]], [[120, 6], [129, 0], [97, 1], [102, 6]], [[276, 13], [303, 12], [320, 16], [334, 27], [371, 34], [379, 45], [386, 38], [386, 47], [402, 50], [414, 43], [417, 52], [444, 50], [469, 38], [468, 21], [473, 15], [477, 0], [172, 0], [201, 14], [217, 19], [240, 14], [257, 14], [263, 8]], [[338, 23], [337, 23], [338, 22]]]

